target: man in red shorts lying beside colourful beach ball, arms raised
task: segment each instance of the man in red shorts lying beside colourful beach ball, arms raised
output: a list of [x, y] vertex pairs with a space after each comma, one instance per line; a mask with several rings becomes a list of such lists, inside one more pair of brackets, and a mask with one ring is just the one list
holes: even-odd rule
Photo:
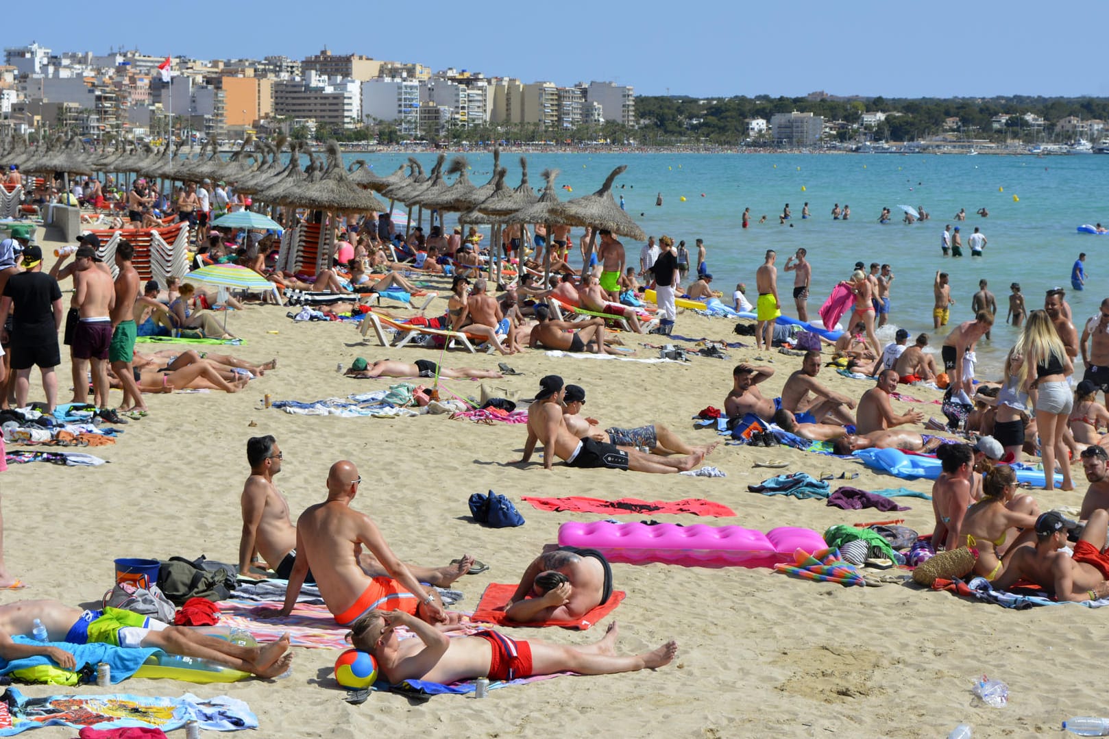
[[[419, 638], [398, 640], [397, 626], [405, 626]], [[609, 625], [600, 642], [583, 647], [538, 639], [518, 642], [492, 630], [450, 638], [401, 610], [370, 612], [350, 628], [350, 644], [374, 655], [378, 669], [394, 684], [403, 680], [447, 684], [481, 676], [490, 680], [515, 680], [567, 671], [581, 675], [633, 673], [668, 665], [678, 654], [678, 644], [671, 640], [652, 651], [617, 656], [620, 634], [615, 623]]]

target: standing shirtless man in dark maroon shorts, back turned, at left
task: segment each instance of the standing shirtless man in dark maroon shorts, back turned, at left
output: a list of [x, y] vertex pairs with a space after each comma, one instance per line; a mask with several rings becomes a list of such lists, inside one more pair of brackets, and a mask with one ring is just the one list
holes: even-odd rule
[[[71, 355], [74, 362], [91, 360], [93, 403], [101, 413], [115, 415], [108, 408], [108, 347], [112, 341], [115, 286], [111, 275], [93, 266], [94, 256], [92, 247], [82, 245], [77, 249], [73, 264], [77, 290], [73, 301], [78, 306], [80, 322], [73, 332]], [[81, 381], [83, 384], [84, 378]]]

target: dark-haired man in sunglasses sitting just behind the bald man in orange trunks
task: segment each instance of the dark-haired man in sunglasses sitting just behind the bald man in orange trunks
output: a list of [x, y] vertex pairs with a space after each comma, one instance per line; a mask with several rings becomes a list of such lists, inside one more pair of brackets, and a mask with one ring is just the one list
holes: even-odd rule
[[[296, 564], [296, 526], [289, 519], [288, 501], [274, 484], [274, 475], [282, 469], [282, 456], [273, 437], [253, 437], [246, 441], [251, 476], [240, 497], [243, 533], [238, 541], [238, 572], [244, 577], [264, 579], [267, 575], [252, 566], [265, 566], [281, 579], [288, 579]], [[388, 577], [372, 553], [363, 552], [357, 560], [369, 577]], [[423, 583], [446, 587], [469, 572], [472, 564], [474, 557], [465, 555], [444, 567], [408, 565], [408, 569]], [[304, 582], [315, 582], [311, 572], [306, 573]]]

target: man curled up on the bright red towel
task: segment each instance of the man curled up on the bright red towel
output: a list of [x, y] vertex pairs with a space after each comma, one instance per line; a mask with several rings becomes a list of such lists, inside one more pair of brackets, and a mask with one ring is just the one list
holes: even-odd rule
[[612, 567], [603, 554], [560, 546], [528, 565], [505, 615], [518, 624], [572, 620], [608, 603], [611, 595]]

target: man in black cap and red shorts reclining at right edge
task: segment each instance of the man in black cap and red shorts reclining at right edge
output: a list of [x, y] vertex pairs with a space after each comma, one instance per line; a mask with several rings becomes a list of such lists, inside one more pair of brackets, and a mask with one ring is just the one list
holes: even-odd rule
[[1058, 511], [1048, 511], [1036, 520], [1036, 545], [1018, 546], [1005, 572], [994, 582], [998, 591], [1019, 579], [1028, 579], [1055, 593], [1058, 601], [1098, 601], [1109, 596], [1109, 555], [1106, 525], [1109, 511], [1095, 511], [1075, 544], [1072, 556], [1061, 552], [1072, 523]]

